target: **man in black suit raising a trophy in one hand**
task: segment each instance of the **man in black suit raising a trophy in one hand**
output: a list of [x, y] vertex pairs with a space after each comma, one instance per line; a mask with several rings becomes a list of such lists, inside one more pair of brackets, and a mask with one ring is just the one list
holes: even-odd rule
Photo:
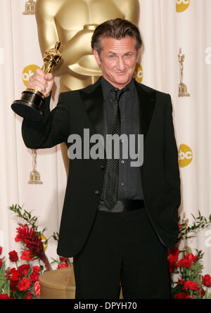
[[135, 25], [107, 21], [91, 41], [103, 72], [95, 84], [60, 94], [52, 111], [52, 75], [37, 70], [27, 86], [46, 96], [43, 120], [23, 120], [28, 148], [65, 142], [71, 157], [71, 135], [84, 142], [88, 129], [89, 139], [133, 134], [137, 151], [143, 134], [139, 166], [132, 166], [131, 151], [122, 157], [124, 141], [119, 159], [84, 157], [82, 145], [82, 158], [70, 161], [58, 255], [73, 257], [76, 298], [118, 298], [120, 282], [124, 298], [170, 298], [167, 248], [177, 240], [180, 205], [177, 145], [170, 95], [133, 78], [141, 44]]

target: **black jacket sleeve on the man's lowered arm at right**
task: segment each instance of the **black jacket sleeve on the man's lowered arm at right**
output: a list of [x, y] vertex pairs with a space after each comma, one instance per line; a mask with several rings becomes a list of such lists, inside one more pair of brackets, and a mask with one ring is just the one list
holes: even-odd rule
[[178, 149], [174, 136], [172, 101], [170, 95], [168, 97], [165, 115], [165, 181], [169, 190], [167, 197], [170, 200], [169, 205], [172, 207], [174, 204], [175, 215], [177, 215], [181, 201]]

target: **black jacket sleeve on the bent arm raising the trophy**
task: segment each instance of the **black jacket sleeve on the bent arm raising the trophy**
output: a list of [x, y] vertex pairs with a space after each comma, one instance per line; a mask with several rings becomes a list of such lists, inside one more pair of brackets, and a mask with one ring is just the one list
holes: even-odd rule
[[41, 122], [23, 119], [22, 136], [27, 148], [51, 148], [68, 139], [70, 129], [68, 103], [63, 102], [63, 94], [60, 94], [56, 108], [51, 111], [50, 100], [49, 96], [43, 103], [41, 109], [44, 111], [44, 117]]

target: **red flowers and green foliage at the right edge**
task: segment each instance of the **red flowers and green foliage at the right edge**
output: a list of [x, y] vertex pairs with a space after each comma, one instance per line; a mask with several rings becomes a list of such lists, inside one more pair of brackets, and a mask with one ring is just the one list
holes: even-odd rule
[[[208, 295], [208, 288], [211, 287], [211, 277], [206, 274], [202, 275], [203, 270], [203, 253], [196, 250], [193, 253], [186, 254], [186, 250], [179, 250], [178, 246], [182, 240], [187, 240], [196, 236], [196, 231], [210, 226], [210, 220], [200, 215], [194, 217], [192, 226], [188, 226], [187, 220], [179, 224], [179, 238], [177, 246], [173, 250], [168, 250], [168, 264], [170, 279], [172, 285], [172, 298], [174, 299], [211, 299], [211, 293]], [[191, 236], [188, 236], [191, 233]], [[183, 253], [183, 257], [179, 259], [179, 253]]]

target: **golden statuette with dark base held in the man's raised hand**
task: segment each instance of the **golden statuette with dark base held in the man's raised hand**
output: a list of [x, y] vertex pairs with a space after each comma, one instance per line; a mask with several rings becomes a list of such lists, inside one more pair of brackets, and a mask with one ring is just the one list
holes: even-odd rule
[[[60, 41], [56, 42], [56, 45], [46, 50], [44, 53], [44, 65], [41, 70], [46, 74], [50, 73], [53, 66], [58, 64], [61, 59], [61, 54], [58, 51], [60, 48]], [[20, 100], [13, 101], [11, 106], [12, 110], [27, 120], [39, 122], [42, 119], [43, 112], [41, 111], [41, 105], [44, 102], [44, 95], [38, 90], [26, 89], [23, 91]]]

